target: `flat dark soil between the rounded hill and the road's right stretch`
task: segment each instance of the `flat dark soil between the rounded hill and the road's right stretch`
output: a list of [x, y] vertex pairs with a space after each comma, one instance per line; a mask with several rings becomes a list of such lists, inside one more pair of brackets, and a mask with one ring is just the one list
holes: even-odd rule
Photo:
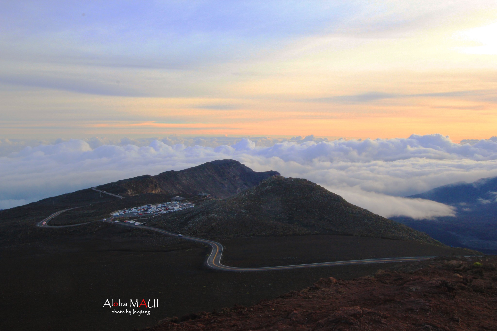
[[464, 249], [414, 241], [336, 235], [251, 237], [221, 240], [221, 243], [224, 246], [223, 264], [248, 267], [474, 254]]

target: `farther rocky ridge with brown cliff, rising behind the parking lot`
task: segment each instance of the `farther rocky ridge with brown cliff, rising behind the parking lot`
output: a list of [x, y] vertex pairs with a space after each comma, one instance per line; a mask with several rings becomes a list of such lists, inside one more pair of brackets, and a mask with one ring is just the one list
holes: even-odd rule
[[227, 198], [274, 175], [279, 173], [256, 172], [236, 160], [216, 160], [180, 171], [125, 179], [101, 185], [97, 189], [128, 197], [144, 193], [197, 195], [206, 192], [216, 198]]

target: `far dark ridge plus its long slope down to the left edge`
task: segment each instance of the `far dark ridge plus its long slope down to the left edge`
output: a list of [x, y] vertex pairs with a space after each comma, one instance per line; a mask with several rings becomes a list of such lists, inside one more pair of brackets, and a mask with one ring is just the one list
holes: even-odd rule
[[[276, 171], [255, 172], [235, 160], [216, 160], [181, 171], [166, 171], [157, 176], [140, 176], [98, 188], [124, 196], [119, 199], [92, 189], [79, 190], [57, 197], [42, 199], [26, 205], [1, 210], [0, 245], [2, 242], [28, 242], [38, 240], [55, 231], [30, 230], [36, 222], [50, 214], [67, 208], [80, 207], [58, 216], [52, 224], [77, 224], [107, 217], [110, 212], [145, 203], [169, 201], [180, 195], [189, 200], [199, 199], [200, 192], [215, 198], [226, 198], [257, 185], [261, 180], [279, 175]], [[207, 201], [202, 201], [207, 202]], [[92, 228], [101, 225], [92, 223]], [[81, 228], [68, 228], [57, 233], [78, 232]]]

